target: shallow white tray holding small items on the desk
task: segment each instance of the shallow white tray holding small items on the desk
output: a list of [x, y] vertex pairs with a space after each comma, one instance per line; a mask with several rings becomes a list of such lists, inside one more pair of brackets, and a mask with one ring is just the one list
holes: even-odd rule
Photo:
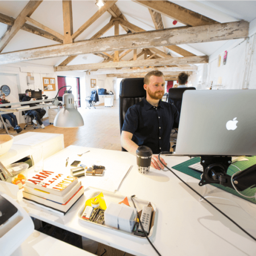
[[[88, 198], [93, 198], [93, 197], [99, 195], [102, 192], [102, 191], [98, 191], [97, 189], [90, 189], [90, 190], [92, 190], [92, 194]], [[104, 195], [104, 199], [105, 199], [107, 207], [111, 202], [119, 203], [119, 202], [123, 201], [123, 199], [125, 199], [125, 197], [126, 197], [126, 196], [122, 196], [122, 195], [115, 195], [114, 193], [109, 193], [109, 192], [102, 192], [102, 193]], [[86, 195], [86, 197], [87, 197], [87, 195]], [[134, 208], [133, 201], [131, 201], [131, 197], [127, 196], [127, 198], [128, 198], [130, 207]], [[138, 212], [140, 212], [144, 206], [147, 206], [148, 203], [151, 203], [152, 207], [154, 208], [155, 212], [152, 213], [153, 215], [152, 215], [152, 219], [151, 219], [151, 222], [153, 221], [154, 224], [153, 224], [152, 228], [150, 229], [150, 233], [148, 234], [148, 237], [151, 237], [152, 233], [154, 232], [154, 227], [155, 227], [155, 221], [156, 221], [155, 216], [156, 216], [156, 214], [154, 214], [154, 213], [156, 213], [156, 207], [152, 202], [146, 201], [146, 200], [141, 200], [141, 199], [138, 199], [137, 197], [133, 197], [133, 200], [134, 200], [134, 203], [136, 205], [136, 208], [137, 208]], [[109, 226], [106, 226], [105, 224], [101, 225], [101, 224], [97, 224], [95, 222], [84, 220], [82, 218], [82, 213], [84, 212], [84, 208], [85, 208], [85, 205], [83, 205], [81, 207], [81, 209], [79, 210], [79, 212], [78, 212], [79, 221], [83, 225], [98, 225], [98, 226], [102, 226], [102, 227], [107, 228], [107, 229], [115, 230], [117, 232], [122, 232], [122, 233], [125, 233], [125, 234], [129, 234], [130, 236], [139, 237], [139, 238], [146, 238], [146, 237], [135, 236], [133, 233], [128, 233], [128, 232], [125, 232], [125, 231], [122, 231], [122, 230], [119, 230], [119, 229], [111, 228]]]

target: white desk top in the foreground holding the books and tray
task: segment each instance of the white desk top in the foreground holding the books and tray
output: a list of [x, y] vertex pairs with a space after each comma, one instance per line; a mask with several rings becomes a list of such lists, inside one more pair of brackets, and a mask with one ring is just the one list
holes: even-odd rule
[[[81, 158], [77, 156], [77, 153], [86, 150], [90, 152]], [[150, 174], [141, 175], [137, 171], [135, 156], [128, 152], [79, 146], [69, 146], [47, 158], [44, 161], [45, 170], [69, 173], [69, 166], [65, 168], [67, 157], [70, 163], [81, 159], [83, 164], [94, 162], [104, 165], [104, 162], [112, 160], [114, 163], [133, 165], [116, 193], [123, 196], [136, 195], [139, 199], [151, 201], [156, 205], [154, 232], [150, 240], [162, 256], [255, 255], [256, 242], [217, 210], [200, 201], [200, 197], [181, 183], [170, 171], [151, 170]], [[163, 158], [169, 167], [189, 159], [177, 156], [164, 156]], [[256, 237], [255, 204], [212, 185], [199, 187], [199, 180], [179, 171], [175, 172], [198, 192], [209, 196], [209, 200], [218, 208]], [[144, 238], [133, 237], [90, 223], [81, 224], [77, 212], [85, 204], [85, 200], [89, 199], [91, 190], [86, 189], [84, 197], [81, 197], [65, 216], [24, 203], [22, 199], [19, 203], [26, 208], [31, 217], [83, 237], [134, 255], [157, 255]]]

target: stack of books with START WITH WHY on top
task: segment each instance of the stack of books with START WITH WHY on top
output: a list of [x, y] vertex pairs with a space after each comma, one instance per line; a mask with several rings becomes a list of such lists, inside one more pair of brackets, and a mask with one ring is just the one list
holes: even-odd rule
[[23, 200], [64, 215], [84, 195], [77, 177], [42, 171], [25, 182]]

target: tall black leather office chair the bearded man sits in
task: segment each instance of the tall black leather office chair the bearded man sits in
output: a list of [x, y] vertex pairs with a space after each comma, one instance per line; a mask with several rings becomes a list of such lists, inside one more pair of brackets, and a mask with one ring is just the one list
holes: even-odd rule
[[[125, 114], [130, 106], [142, 101], [146, 97], [146, 90], [143, 88], [143, 78], [123, 79], [120, 83], [119, 93], [119, 125], [120, 133], [122, 132]], [[122, 148], [122, 151], [126, 151]]]

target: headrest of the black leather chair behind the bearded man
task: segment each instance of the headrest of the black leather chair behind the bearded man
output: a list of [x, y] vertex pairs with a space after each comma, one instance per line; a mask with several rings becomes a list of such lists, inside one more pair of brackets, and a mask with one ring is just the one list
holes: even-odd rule
[[145, 97], [146, 90], [143, 88], [143, 78], [131, 78], [123, 79], [120, 83], [120, 94], [121, 98], [138, 98]]

